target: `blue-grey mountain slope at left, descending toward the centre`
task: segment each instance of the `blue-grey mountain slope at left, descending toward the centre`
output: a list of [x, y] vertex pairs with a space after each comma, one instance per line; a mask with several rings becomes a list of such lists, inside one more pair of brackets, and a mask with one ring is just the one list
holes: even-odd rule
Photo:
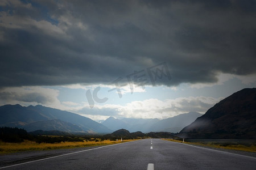
[[19, 104], [1, 106], [0, 126], [23, 128], [27, 131], [112, 132], [112, 130], [90, 118], [42, 105], [30, 105], [28, 107], [22, 107]]

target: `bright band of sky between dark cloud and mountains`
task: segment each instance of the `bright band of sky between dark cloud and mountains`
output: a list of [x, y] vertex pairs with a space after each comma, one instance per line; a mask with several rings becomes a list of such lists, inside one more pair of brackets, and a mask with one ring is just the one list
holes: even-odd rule
[[[48, 107], [71, 111], [82, 116], [102, 121], [113, 116], [116, 118], [168, 118], [181, 113], [199, 112], [204, 114], [218, 101], [232, 95], [242, 88], [255, 87], [255, 80], [245, 80], [241, 77], [220, 75], [220, 81], [214, 84], [180, 84], [176, 87], [167, 86], [146, 86], [134, 87], [131, 94], [130, 86], [121, 87], [122, 97], [119, 97], [115, 86], [104, 86], [102, 84], [84, 86], [73, 84], [68, 86], [42, 86], [42, 87], [19, 87], [7, 88], [4, 91], [11, 91], [19, 96], [13, 100], [6, 100], [3, 104], [36, 105], [42, 104]], [[225, 77], [226, 79], [223, 79]], [[236, 84], [236, 86], [234, 86]], [[94, 101], [93, 108], [90, 108], [86, 91], [93, 92], [101, 87], [97, 97], [107, 97], [104, 103]], [[29, 97], [34, 96], [35, 99]], [[29, 95], [31, 94], [31, 95]], [[36, 102], [31, 101], [36, 100]], [[10, 103], [12, 101], [13, 103]]]

